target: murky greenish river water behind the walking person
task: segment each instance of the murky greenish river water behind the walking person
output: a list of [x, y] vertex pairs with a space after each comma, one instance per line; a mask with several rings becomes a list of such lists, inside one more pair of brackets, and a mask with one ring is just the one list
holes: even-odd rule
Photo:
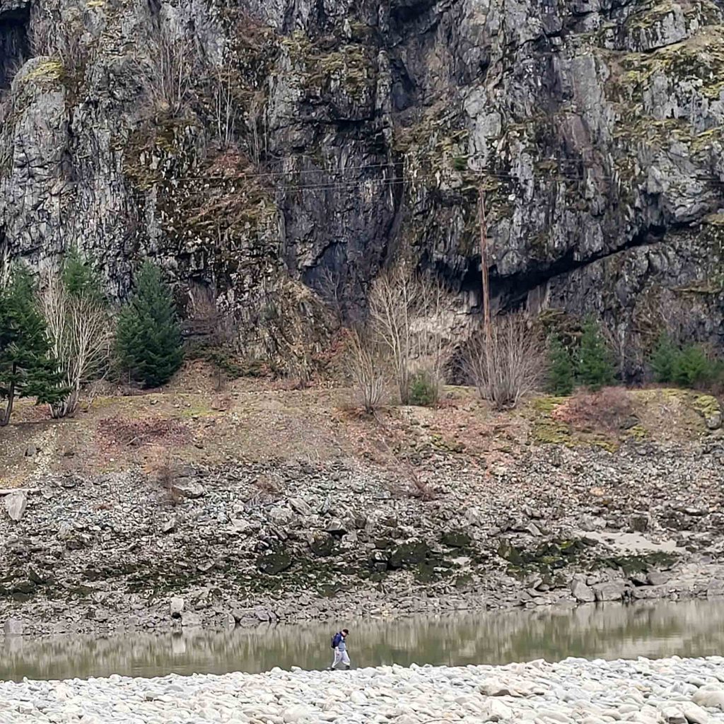
[[0, 643], [0, 679], [324, 668], [331, 662], [329, 639], [342, 626], [350, 629], [348, 650], [357, 667], [724, 653], [724, 601], [695, 600], [260, 626], [227, 633], [8, 637]]

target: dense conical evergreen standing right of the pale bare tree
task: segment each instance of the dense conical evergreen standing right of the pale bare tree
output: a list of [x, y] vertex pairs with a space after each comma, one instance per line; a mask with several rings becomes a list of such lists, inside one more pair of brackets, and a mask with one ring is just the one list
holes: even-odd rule
[[168, 382], [183, 361], [172, 293], [150, 261], [141, 267], [135, 295], [121, 310], [117, 348], [122, 364], [146, 387]]

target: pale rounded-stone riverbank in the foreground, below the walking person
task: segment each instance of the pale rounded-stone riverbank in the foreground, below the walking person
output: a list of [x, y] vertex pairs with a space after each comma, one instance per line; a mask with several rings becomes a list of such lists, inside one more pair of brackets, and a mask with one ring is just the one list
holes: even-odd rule
[[714, 724], [724, 658], [0, 684], [3, 724]]

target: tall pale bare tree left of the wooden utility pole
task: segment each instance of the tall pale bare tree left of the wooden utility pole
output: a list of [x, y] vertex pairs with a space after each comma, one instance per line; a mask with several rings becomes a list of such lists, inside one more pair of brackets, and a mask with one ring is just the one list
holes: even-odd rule
[[400, 401], [410, 401], [413, 376], [425, 371], [442, 378], [449, 344], [452, 299], [432, 277], [408, 264], [384, 272], [369, 295], [369, 324], [392, 362]]

